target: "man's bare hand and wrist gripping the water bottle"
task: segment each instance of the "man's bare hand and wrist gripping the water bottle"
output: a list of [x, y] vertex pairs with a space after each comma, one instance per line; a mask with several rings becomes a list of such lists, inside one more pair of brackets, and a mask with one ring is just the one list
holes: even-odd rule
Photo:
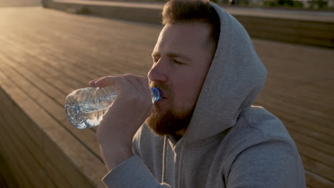
[[148, 79], [137, 75], [110, 75], [92, 80], [89, 85], [114, 86], [118, 91], [96, 132], [101, 155], [111, 170], [133, 155], [133, 135], [151, 115], [153, 103]]

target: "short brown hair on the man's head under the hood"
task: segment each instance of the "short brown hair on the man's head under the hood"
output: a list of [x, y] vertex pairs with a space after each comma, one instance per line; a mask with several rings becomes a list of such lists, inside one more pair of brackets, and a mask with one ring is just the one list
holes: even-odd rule
[[221, 21], [216, 10], [206, 0], [171, 0], [163, 6], [162, 23], [208, 23], [211, 26], [210, 39], [217, 48]]

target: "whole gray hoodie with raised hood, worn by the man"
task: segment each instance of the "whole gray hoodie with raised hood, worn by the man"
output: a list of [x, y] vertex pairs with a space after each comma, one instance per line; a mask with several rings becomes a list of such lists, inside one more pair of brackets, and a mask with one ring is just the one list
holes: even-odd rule
[[251, 104], [266, 70], [243, 26], [221, 19], [213, 63], [183, 137], [158, 137], [143, 125], [136, 155], [106, 174], [108, 187], [305, 187], [303, 163], [283, 123]]

